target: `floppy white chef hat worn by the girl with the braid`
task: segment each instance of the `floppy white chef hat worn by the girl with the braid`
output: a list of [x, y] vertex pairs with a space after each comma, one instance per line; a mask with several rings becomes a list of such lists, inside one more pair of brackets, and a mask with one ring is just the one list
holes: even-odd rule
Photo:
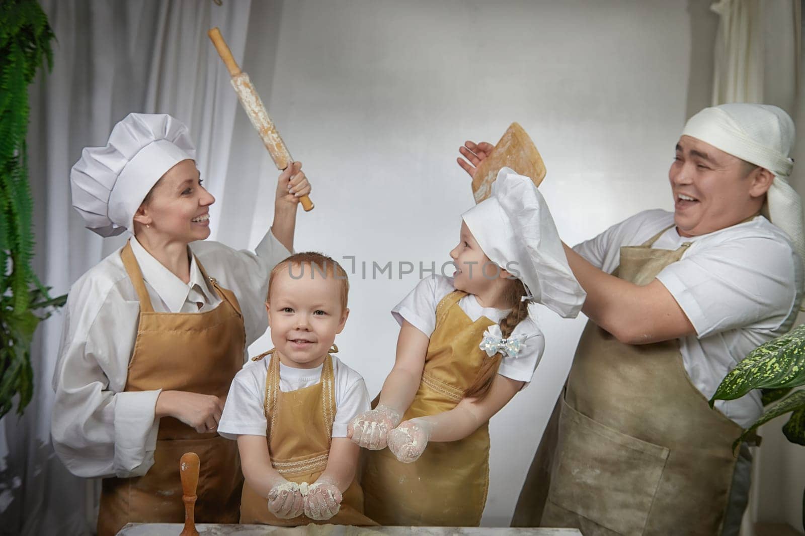
[[519, 272], [528, 300], [576, 317], [587, 293], [568, 266], [551, 211], [530, 178], [502, 168], [489, 198], [461, 217], [489, 260]]

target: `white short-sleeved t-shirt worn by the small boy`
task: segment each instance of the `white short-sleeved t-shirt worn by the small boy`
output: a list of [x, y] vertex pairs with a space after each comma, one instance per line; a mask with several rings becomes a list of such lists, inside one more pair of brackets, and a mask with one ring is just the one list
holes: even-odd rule
[[[230, 440], [237, 436], [265, 436], [266, 376], [270, 356], [249, 362], [235, 374], [224, 413], [218, 423], [218, 433]], [[315, 369], [296, 369], [279, 363], [279, 391], [287, 393], [316, 385], [321, 379], [324, 364]], [[361, 377], [332, 356], [333, 384], [336, 391], [336, 416], [332, 422], [332, 436], [346, 437], [347, 424], [356, 415], [369, 411], [369, 391]]]

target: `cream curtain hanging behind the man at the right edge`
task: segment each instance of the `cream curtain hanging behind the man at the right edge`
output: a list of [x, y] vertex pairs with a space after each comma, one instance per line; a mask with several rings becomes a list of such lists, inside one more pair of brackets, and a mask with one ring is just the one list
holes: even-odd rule
[[[800, 104], [802, 76], [802, 3], [799, 0], [720, 0], [712, 4], [720, 16], [714, 55], [712, 104], [775, 104], [799, 129], [792, 156], [798, 162], [791, 186], [803, 194], [805, 107]], [[800, 315], [798, 323], [803, 322]], [[782, 419], [760, 428], [761, 448], [753, 448], [753, 485], [742, 536], [753, 536], [755, 522], [788, 522], [802, 529], [805, 452], [788, 444], [780, 432]], [[800, 470], [796, 470], [799, 468]]]

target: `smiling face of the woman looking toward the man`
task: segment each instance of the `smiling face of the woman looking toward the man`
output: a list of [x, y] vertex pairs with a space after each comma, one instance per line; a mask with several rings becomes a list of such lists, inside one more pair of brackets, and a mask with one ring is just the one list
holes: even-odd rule
[[159, 179], [135, 218], [170, 241], [190, 243], [209, 236], [213, 203], [213, 195], [201, 186], [196, 162], [183, 160]]

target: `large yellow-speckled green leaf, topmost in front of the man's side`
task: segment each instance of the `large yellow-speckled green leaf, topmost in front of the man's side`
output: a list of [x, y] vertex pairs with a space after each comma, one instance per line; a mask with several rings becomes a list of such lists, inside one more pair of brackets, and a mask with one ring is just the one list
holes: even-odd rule
[[721, 380], [710, 399], [734, 400], [758, 388], [781, 389], [805, 384], [805, 325], [763, 343]]

